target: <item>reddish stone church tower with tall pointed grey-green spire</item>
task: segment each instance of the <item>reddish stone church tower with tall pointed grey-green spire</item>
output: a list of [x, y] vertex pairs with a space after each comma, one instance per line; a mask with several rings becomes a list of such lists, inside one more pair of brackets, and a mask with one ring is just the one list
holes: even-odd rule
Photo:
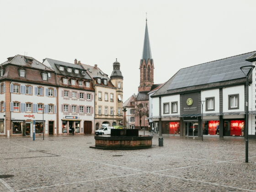
[[152, 85], [154, 84], [154, 61], [151, 55], [147, 19], [142, 59], [140, 59], [139, 70], [140, 83], [138, 91], [150, 91]]

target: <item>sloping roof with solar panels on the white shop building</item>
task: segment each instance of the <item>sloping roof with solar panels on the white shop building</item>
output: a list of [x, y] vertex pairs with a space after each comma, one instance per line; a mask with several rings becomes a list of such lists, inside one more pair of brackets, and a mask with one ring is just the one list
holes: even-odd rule
[[246, 59], [255, 53], [253, 51], [180, 69], [153, 96], [195, 90], [198, 86], [201, 89], [209, 88], [210, 85], [224, 85], [231, 81], [239, 83], [245, 79], [240, 67], [251, 65]]

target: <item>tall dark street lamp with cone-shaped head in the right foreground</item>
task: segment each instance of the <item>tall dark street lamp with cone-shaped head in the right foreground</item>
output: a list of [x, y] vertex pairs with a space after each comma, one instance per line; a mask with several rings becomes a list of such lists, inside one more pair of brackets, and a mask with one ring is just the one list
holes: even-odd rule
[[243, 74], [246, 76], [246, 98], [245, 98], [245, 163], [248, 163], [248, 103], [249, 103], [249, 88], [248, 88], [248, 79], [254, 69], [254, 65], [246, 65], [240, 67]]

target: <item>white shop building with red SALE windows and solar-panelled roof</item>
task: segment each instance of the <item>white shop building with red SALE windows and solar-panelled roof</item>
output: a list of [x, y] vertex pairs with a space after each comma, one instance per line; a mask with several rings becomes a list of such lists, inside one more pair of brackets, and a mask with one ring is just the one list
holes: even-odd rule
[[[245, 83], [241, 66], [255, 65], [255, 53], [180, 69], [152, 96], [152, 120], [162, 133], [216, 137], [245, 135]], [[249, 138], [256, 139], [256, 71], [249, 77]], [[204, 101], [203, 105], [201, 101]]]

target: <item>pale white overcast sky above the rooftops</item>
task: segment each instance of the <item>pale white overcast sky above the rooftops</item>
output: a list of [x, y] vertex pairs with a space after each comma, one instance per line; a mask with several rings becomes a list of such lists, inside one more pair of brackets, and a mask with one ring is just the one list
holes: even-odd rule
[[124, 101], [139, 86], [148, 14], [154, 82], [179, 69], [256, 50], [255, 0], [0, 0], [0, 63], [16, 54], [121, 64]]

